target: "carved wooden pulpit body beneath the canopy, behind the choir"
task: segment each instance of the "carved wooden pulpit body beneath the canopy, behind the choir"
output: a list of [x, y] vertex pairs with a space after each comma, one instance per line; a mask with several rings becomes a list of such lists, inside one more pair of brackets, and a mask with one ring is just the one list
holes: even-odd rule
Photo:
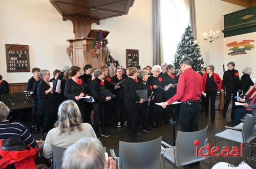
[[86, 64], [92, 65], [93, 68], [100, 68], [105, 66], [105, 58], [108, 57], [110, 51], [106, 44], [106, 36], [108, 31], [103, 31], [103, 44], [100, 49], [93, 46], [93, 40], [96, 36], [99, 36], [99, 30], [91, 30], [87, 37], [68, 39], [70, 43], [67, 48], [67, 53], [73, 66], [79, 66], [81, 72], [83, 72], [83, 66]]

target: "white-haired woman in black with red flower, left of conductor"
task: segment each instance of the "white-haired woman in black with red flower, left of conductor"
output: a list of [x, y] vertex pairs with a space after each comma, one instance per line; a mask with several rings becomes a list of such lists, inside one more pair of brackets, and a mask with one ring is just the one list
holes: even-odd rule
[[155, 104], [163, 102], [163, 93], [161, 89], [159, 89], [159, 86], [164, 88], [163, 78], [159, 76], [160, 71], [161, 68], [159, 65], [153, 66], [153, 75], [148, 77], [147, 80], [154, 92], [154, 99], [151, 101], [151, 121], [152, 126], [155, 128], [157, 125], [161, 125], [163, 123], [163, 108]]

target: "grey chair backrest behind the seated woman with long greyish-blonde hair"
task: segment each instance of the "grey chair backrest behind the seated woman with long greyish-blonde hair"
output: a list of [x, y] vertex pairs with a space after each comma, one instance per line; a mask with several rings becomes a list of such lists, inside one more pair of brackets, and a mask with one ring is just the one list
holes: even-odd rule
[[63, 153], [67, 148], [57, 147], [52, 145], [52, 153], [53, 153], [53, 168], [54, 169], [62, 169], [62, 157]]

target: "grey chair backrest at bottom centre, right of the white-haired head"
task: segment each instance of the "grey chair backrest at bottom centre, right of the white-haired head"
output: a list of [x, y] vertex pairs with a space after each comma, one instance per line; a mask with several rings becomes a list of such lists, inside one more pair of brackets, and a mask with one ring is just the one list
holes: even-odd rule
[[161, 140], [159, 137], [150, 142], [119, 142], [119, 168], [162, 168]]

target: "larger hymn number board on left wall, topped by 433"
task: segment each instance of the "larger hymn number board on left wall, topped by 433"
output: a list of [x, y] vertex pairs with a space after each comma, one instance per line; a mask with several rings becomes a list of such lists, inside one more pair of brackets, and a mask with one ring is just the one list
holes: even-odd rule
[[29, 46], [5, 44], [7, 72], [30, 72]]

